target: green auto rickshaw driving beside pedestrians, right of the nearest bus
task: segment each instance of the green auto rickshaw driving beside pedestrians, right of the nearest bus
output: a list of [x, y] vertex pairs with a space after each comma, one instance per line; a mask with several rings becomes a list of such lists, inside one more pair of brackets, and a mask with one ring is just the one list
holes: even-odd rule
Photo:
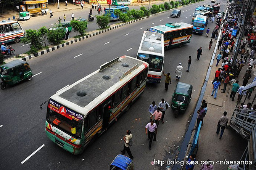
[[172, 95], [172, 110], [175, 113], [175, 117], [179, 112], [185, 112], [188, 104], [191, 101], [193, 86], [187, 83], [179, 82], [176, 85], [174, 93]]

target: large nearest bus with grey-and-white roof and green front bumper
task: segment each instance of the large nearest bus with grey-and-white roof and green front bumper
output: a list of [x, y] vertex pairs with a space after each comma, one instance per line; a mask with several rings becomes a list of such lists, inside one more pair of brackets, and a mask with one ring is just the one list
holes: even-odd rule
[[103, 64], [50, 97], [46, 135], [64, 150], [81, 154], [89, 142], [115, 122], [113, 115], [118, 117], [127, 111], [142, 94], [147, 74], [148, 63], [129, 56]]

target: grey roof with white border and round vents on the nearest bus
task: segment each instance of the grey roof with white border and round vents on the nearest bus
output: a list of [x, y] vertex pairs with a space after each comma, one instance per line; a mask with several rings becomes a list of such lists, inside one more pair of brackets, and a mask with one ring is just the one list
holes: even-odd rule
[[[148, 63], [133, 57], [122, 56], [113, 59], [101, 65], [97, 71], [51, 96], [51, 99], [86, 115], [145, 67], [148, 67]], [[79, 93], [86, 95], [78, 96]]]

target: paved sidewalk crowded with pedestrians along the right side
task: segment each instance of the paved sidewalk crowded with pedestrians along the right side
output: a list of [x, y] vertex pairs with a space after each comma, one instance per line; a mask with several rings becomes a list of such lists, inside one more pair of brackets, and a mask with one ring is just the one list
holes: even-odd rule
[[[216, 51], [216, 56], [219, 54], [219, 50]], [[232, 53], [230, 53], [229, 56], [231, 56]], [[238, 55], [238, 59], [240, 58], [240, 55]], [[216, 67], [216, 57], [213, 62], [213, 68], [211, 70], [211, 74], [209, 77], [209, 81], [207, 83], [206, 91], [204, 94], [204, 99], [206, 100], [206, 103], [208, 104], [208, 111], [206, 116], [204, 117], [204, 125], [201, 127], [200, 135], [199, 135], [199, 148], [198, 152], [196, 154], [196, 160], [199, 161], [205, 161], [207, 159], [213, 160], [215, 165], [213, 165], [214, 169], [217, 170], [226, 170], [229, 165], [216, 165], [216, 161], [218, 160], [240, 160], [243, 152], [245, 151], [245, 148], [247, 146], [247, 140], [243, 140], [242, 137], [237, 134], [231, 127], [229, 127], [229, 123], [227, 127], [225, 128], [225, 132], [222, 136], [222, 139], [219, 139], [219, 135], [216, 134], [217, 130], [217, 123], [221, 116], [223, 116], [223, 112], [227, 112], [227, 117], [229, 117], [229, 120], [233, 114], [234, 108], [236, 106], [236, 100], [238, 95], [236, 94], [235, 100], [231, 101], [229, 98], [230, 91], [232, 89], [231, 85], [227, 85], [227, 90], [225, 93], [221, 93], [222, 90], [219, 90], [217, 93], [217, 99], [214, 99], [213, 96], [211, 96], [212, 92], [212, 80], [214, 79], [215, 71], [219, 68]], [[219, 63], [221, 65], [221, 63]], [[245, 70], [248, 68], [246, 65], [243, 67], [242, 71], [240, 72], [239, 77], [236, 78], [236, 80], [239, 81], [239, 85], [242, 85], [243, 80], [242, 77], [245, 74]], [[255, 69], [253, 69], [253, 73], [255, 72]], [[251, 82], [255, 75], [252, 73], [252, 77], [249, 82]], [[223, 88], [224, 83], [221, 83], [221, 89]], [[253, 94], [254, 95], [254, 94]], [[243, 101], [243, 99], [242, 99]], [[241, 102], [240, 102], [241, 103]], [[196, 170], [199, 170], [201, 165], [195, 165]]]

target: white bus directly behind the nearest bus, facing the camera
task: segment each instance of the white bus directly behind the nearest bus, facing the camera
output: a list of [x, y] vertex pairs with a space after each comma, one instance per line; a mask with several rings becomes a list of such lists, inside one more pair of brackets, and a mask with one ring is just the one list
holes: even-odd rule
[[137, 59], [149, 64], [148, 83], [160, 83], [164, 67], [164, 35], [144, 31]]

